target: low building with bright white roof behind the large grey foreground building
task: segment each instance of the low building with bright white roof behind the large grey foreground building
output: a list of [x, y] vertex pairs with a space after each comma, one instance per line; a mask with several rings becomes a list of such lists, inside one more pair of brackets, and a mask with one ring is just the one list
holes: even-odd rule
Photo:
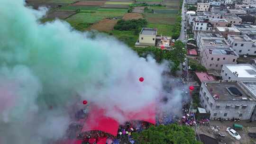
[[252, 64], [226, 64], [220, 76], [222, 80], [256, 81], [256, 67]]

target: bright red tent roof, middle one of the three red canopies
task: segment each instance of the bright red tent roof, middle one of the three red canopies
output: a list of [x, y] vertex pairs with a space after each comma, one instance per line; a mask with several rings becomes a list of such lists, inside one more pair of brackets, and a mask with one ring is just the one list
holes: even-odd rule
[[90, 113], [83, 125], [82, 132], [91, 130], [100, 130], [111, 135], [117, 135], [119, 123], [111, 118], [105, 116], [105, 110], [97, 106], [91, 106]]

